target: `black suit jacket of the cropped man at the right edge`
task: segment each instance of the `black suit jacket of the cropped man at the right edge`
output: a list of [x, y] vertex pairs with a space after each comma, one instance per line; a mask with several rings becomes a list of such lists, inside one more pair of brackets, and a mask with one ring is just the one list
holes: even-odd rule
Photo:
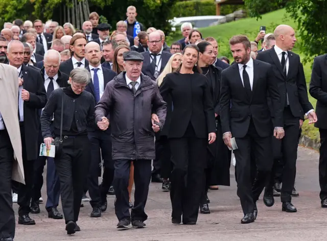
[[327, 54], [313, 61], [309, 93], [317, 100], [315, 127], [327, 129]]

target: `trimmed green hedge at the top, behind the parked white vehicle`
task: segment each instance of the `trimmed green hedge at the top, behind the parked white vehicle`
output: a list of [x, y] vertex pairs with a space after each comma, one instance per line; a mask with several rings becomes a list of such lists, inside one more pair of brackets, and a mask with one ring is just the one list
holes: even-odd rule
[[[242, 5], [222, 5], [221, 15], [232, 13], [242, 8]], [[172, 17], [191, 17], [216, 15], [216, 4], [214, 0], [191, 0], [177, 2], [172, 7]]]

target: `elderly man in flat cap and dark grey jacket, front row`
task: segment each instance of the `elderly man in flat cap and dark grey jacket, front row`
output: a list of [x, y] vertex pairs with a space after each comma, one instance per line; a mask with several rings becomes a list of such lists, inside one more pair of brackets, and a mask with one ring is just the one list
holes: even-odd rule
[[[157, 84], [141, 73], [144, 57], [129, 51], [123, 54], [124, 68], [110, 81], [96, 106], [96, 122], [110, 114], [113, 188], [116, 195], [117, 228], [144, 228], [148, 216], [144, 211], [151, 179], [151, 160], [155, 159], [154, 132], [165, 124], [166, 103]], [[156, 113], [159, 122], [151, 120]], [[134, 163], [134, 206], [129, 212], [128, 179]]]

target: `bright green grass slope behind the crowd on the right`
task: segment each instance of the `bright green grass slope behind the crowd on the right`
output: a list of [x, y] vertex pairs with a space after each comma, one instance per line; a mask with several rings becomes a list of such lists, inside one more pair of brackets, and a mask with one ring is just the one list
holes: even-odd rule
[[[254, 41], [256, 35], [259, 32], [260, 26], [266, 26], [266, 33], [272, 33], [274, 29], [281, 24], [292, 26], [296, 32], [297, 23], [295, 23], [293, 19], [291, 19], [287, 15], [285, 9], [264, 14], [262, 16], [262, 19], [259, 19], [258, 21], [255, 18], [245, 18], [238, 21], [224, 23], [223, 25], [203, 28], [200, 29], [200, 31], [204, 38], [208, 36], [212, 36], [218, 40], [219, 56], [226, 56], [230, 60], [232, 60], [232, 55], [230, 53], [229, 44], [228, 44], [230, 37], [237, 34], [244, 34], [248, 36], [248, 38], [251, 41]], [[182, 35], [180, 32], [174, 33], [167, 37], [167, 42], [169, 42], [170, 44], [173, 41], [177, 41], [181, 39], [181, 36]], [[297, 38], [297, 40], [301, 41], [299, 38]], [[303, 55], [299, 53], [296, 44], [293, 49], [293, 52], [299, 54], [301, 58], [303, 57]], [[308, 87], [311, 78], [311, 65], [312, 63], [307, 63], [304, 65], [305, 76], [306, 76]], [[309, 100], [311, 104], [315, 107], [317, 101], [313, 99], [310, 94], [309, 94]], [[309, 136], [310, 138], [313, 139], [319, 139], [318, 129], [314, 128], [313, 125], [308, 125], [308, 121], [305, 122], [302, 130], [303, 130], [302, 132], [303, 135]]]

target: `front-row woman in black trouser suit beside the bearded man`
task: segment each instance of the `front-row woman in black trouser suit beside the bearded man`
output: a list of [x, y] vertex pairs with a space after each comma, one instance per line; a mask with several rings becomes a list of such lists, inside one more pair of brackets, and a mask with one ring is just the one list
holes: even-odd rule
[[171, 174], [172, 223], [196, 224], [203, 190], [207, 141], [216, 139], [212, 94], [205, 76], [195, 66], [199, 49], [185, 47], [178, 71], [168, 74], [160, 93], [172, 98], [173, 111], [168, 131], [173, 171]]

